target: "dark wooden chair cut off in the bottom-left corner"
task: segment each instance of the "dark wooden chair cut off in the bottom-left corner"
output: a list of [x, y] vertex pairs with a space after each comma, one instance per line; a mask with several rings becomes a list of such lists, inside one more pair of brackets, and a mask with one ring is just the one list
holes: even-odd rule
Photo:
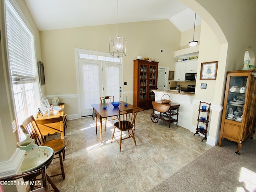
[[[51, 191], [51, 186], [50, 185], [46, 185], [46, 167], [42, 166], [42, 168], [39, 168], [37, 170], [34, 171], [30, 171], [27, 173], [23, 173], [23, 174], [19, 174], [19, 175], [14, 175], [12, 177], [7, 177], [4, 179], [1, 179], [1, 181], [13, 181], [13, 180], [17, 180], [20, 178], [23, 178], [24, 182], [26, 181], [32, 181], [34, 180], [37, 176], [42, 175], [42, 187], [32, 190], [31, 192], [50, 192]], [[30, 185], [30, 182], [29, 182]], [[30, 188], [33, 188], [33, 186], [30, 186]]]

